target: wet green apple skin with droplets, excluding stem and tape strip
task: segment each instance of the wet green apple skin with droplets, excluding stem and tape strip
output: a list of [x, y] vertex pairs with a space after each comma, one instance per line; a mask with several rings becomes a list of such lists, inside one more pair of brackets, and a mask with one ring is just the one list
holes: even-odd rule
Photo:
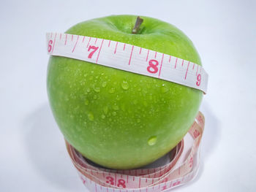
[[[201, 65], [189, 38], [154, 18], [112, 15], [66, 31], [156, 50]], [[48, 98], [64, 138], [86, 158], [133, 169], [168, 153], [187, 134], [203, 93], [184, 85], [72, 58], [50, 56]]]

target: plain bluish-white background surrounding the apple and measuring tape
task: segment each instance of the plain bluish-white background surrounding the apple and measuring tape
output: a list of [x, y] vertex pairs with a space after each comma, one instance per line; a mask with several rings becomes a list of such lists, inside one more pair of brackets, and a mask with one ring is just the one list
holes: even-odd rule
[[200, 172], [174, 191], [256, 191], [255, 10], [253, 0], [1, 1], [0, 191], [87, 191], [48, 105], [45, 33], [113, 14], [173, 23], [209, 74]]

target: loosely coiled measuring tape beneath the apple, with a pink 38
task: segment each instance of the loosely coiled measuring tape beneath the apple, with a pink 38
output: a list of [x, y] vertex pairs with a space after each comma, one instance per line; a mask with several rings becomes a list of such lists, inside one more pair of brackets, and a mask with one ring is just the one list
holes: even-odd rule
[[[168, 153], [170, 161], [151, 169], [115, 170], [92, 165], [66, 141], [72, 163], [83, 184], [95, 192], [157, 192], [184, 185], [197, 174], [204, 117], [198, 112], [188, 134]], [[189, 142], [190, 137], [190, 142]], [[186, 150], [185, 150], [186, 148]]]

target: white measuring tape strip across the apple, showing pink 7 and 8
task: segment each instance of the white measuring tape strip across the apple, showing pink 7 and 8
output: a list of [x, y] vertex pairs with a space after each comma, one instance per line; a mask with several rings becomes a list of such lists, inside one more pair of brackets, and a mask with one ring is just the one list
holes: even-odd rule
[[75, 58], [207, 91], [203, 66], [143, 47], [73, 34], [46, 34], [50, 55]]

